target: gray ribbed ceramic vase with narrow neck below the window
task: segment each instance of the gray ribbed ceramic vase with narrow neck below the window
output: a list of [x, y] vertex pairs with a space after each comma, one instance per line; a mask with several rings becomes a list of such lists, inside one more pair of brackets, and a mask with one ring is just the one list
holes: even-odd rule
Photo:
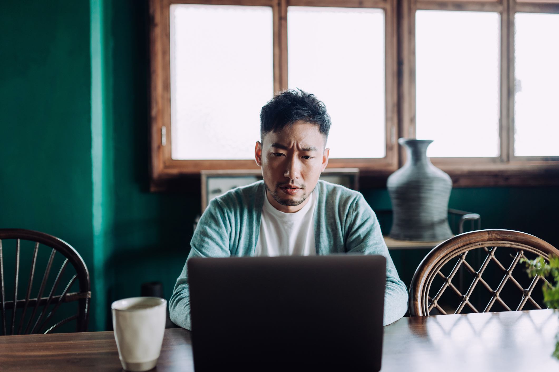
[[427, 157], [428, 139], [400, 138], [407, 161], [388, 177], [392, 201], [390, 237], [400, 240], [437, 241], [453, 236], [448, 225], [451, 177]]

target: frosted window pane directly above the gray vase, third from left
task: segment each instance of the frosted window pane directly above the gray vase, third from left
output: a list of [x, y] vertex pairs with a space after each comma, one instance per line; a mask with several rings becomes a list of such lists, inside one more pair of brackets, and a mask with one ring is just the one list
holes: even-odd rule
[[417, 11], [416, 138], [429, 157], [499, 156], [500, 16]]

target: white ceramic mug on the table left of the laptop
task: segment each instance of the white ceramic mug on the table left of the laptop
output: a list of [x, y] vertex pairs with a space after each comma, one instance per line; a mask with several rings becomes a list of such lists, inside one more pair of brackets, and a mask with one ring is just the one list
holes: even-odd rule
[[159, 297], [125, 298], [113, 302], [111, 310], [122, 368], [131, 372], [154, 368], [163, 344], [167, 301]]

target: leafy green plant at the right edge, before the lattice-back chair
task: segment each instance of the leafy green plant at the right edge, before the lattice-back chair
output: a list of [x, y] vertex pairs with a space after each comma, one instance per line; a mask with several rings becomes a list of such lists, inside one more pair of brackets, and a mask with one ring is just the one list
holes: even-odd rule
[[[559, 308], [559, 257], [550, 255], [549, 263], [541, 256], [533, 260], [522, 258], [520, 262], [525, 263], [528, 267], [527, 272], [530, 278], [542, 276], [548, 279], [550, 284], [544, 283], [542, 287], [543, 302], [549, 308], [557, 311]], [[559, 359], [559, 333], [555, 336], [555, 340], [557, 342], [552, 356]]]

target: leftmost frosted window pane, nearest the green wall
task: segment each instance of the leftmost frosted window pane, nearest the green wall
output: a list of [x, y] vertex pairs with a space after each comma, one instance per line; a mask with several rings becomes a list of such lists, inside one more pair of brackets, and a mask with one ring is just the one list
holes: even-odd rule
[[173, 159], [252, 159], [273, 96], [272, 8], [170, 6]]

